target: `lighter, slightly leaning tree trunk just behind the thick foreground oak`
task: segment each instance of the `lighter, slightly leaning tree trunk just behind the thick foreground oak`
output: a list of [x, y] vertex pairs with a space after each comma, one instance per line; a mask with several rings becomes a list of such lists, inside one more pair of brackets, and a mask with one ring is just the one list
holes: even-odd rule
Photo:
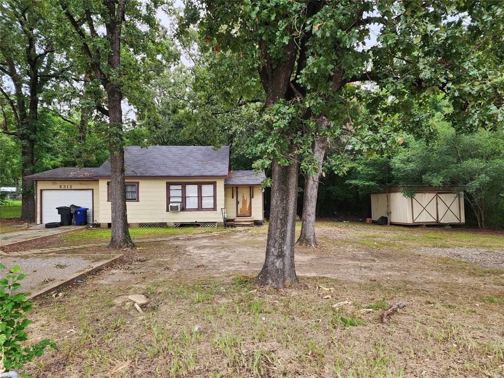
[[[320, 128], [325, 129], [328, 121], [326, 117], [321, 117]], [[307, 175], [304, 181], [304, 196], [303, 196], [303, 215], [301, 224], [301, 234], [297, 239], [296, 244], [316, 246], [318, 244], [315, 235], [315, 218], [317, 212], [317, 196], [319, 193], [319, 182], [322, 176], [322, 165], [324, 164], [324, 156], [329, 146], [329, 137], [324, 137], [318, 134], [313, 141], [313, 156], [317, 160], [318, 171], [316, 175]]]

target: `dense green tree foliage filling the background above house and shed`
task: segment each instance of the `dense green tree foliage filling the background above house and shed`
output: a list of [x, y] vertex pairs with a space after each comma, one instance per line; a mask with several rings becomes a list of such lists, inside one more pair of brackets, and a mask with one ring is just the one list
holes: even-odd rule
[[[294, 132], [301, 172], [306, 175], [313, 173], [310, 146], [320, 130], [316, 118], [300, 119], [307, 112], [324, 113], [331, 118], [332, 127], [319, 187], [318, 216], [367, 217], [369, 194], [386, 184], [455, 185], [467, 195], [469, 221], [504, 227], [504, 184], [500, 179], [504, 142], [499, 106], [504, 49], [498, 32], [484, 34], [502, 29], [497, 3], [476, 7], [473, 3], [434, 2], [433, 8], [421, 8], [408, 2], [379, 2], [382, 20], [376, 21], [385, 25], [378, 43], [370, 48], [364, 48], [369, 36], [365, 24], [348, 33], [340, 29], [341, 25], [355, 26], [354, 13], [370, 12], [372, 2], [349, 3], [345, 10], [327, 7], [314, 20], [294, 17], [302, 14], [303, 2], [221, 3], [206, 5], [208, 14], [213, 12], [215, 17], [203, 20], [199, 29], [193, 25], [201, 18], [205, 2], [189, 1], [183, 11], [166, 7], [176, 26], [170, 31], [152, 30], [155, 38], [127, 29], [125, 36], [134, 47], [157, 42], [141, 62], [146, 75], [131, 60], [134, 50], [124, 55], [124, 67], [130, 68], [124, 77], [129, 95], [129, 111], [124, 117], [126, 145], [230, 145], [232, 169], [254, 166], [268, 170], [272, 157], [281, 155], [287, 146], [283, 135]], [[141, 3], [135, 4], [141, 9]], [[152, 9], [146, 8], [144, 16], [154, 17]], [[51, 10], [48, 6], [33, 8], [34, 20], [65, 24], [60, 12], [53, 14]], [[396, 25], [394, 20], [401, 12], [402, 23]], [[439, 17], [456, 14], [438, 27]], [[460, 16], [466, 14], [471, 15], [471, 23]], [[257, 75], [261, 51], [254, 41], [257, 33], [264, 34], [269, 41], [265, 47], [268, 54], [280, 54], [281, 60], [285, 41], [279, 35], [290, 28], [289, 15], [294, 15], [306, 35], [314, 37], [310, 59], [296, 73], [295, 84], [302, 93], [291, 102], [279, 101], [263, 108], [265, 93]], [[248, 21], [240, 25], [241, 39], [236, 39], [226, 25], [241, 16]], [[278, 33], [272, 33], [268, 24], [272, 17], [280, 25], [275, 29]], [[367, 17], [374, 16], [370, 13]], [[422, 24], [416, 22], [419, 18], [424, 20]], [[256, 30], [259, 24], [263, 26]], [[9, 25], [5, 21], [3, 27]], [[62, 51], [54, 56], [54, 70], [63, 67], [67, 71], [58, 71], [59, 76], [47, 82], [40, 97], [34, 171], [99, 166], [109, 154], [106, 118], [95, 109], [103, 91], [92, 77], [84, 87], [72, 79], [73, 73], [82, 80], [86, 67], [74, 56], [76, 50], [68, 49], [66, 38], [72, 33], [68, 25], [44, 25], [47, 28], [34, 33], [39, 33], [37, 37], [43, 42], [51, 41], [47, 46]], [[22, 31], [12, 37], [17, 44], [9, 43], [22, 46]], [[331, 54], [335, 44], [339, 49]], [[392, 52], [399, 56], [392, 57]], [[182, 62], [181, 53], [190, 65]], [[160, 56], [164, 67], [159, 64]], [[73, 64], [67, 67], [66, 59]], [[372, 81], [379, 86], [359, 84], [365, 61], [372, 61]], [[339, 94], [332, 93], [330, 85], [335, 62], [341, 62], [351, 83]], [[397, 81], [397, 77], [403, 80]], [[422, 78], [421, 84], [417, 77]], [[426, 87], [429, 89], [424, 90]], [[11, 108], [5, 99], [1, 105], [8, 130], [15, 130]], [[83, 138], [78, 124], [86, 108], [93, 111]], [[21, 177], [21, 143], [15, 136], [0, 133], [0, 144], [0, 182], [13, 186]], [[301, 178], [298, 214], [302, 191]]]

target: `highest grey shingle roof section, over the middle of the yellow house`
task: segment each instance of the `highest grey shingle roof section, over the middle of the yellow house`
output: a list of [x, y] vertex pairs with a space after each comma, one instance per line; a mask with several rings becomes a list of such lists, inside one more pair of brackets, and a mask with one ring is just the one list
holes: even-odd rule
[[[227, 176], [229, 146], [215, 151], [211, 146], [124, 147], [126, 176]], [[95, 176], [110, 176], [106, 161]]]

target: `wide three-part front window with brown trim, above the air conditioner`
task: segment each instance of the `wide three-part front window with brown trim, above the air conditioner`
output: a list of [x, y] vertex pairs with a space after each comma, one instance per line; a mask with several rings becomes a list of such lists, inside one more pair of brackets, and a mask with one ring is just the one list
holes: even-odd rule
[[205, 211], [217, 209], [217, 183], [205, 182], [167, 182], [166, 211], [169, 204], [180, 204], [185, 211]]

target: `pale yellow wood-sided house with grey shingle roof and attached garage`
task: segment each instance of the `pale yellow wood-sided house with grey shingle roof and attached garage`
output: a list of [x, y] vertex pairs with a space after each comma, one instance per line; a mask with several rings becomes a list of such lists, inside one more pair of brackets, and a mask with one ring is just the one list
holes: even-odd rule
[[[229, 170], [229, 147], [124, 148], [128, 222], [132, 227], [260, 225], [264, 172]], [[56, 168], [28, 176], [36, 183], [37, 223], [59, 221], [56, 207], [88, 208], [88, 223], [109, 227], [110, 163]]]

